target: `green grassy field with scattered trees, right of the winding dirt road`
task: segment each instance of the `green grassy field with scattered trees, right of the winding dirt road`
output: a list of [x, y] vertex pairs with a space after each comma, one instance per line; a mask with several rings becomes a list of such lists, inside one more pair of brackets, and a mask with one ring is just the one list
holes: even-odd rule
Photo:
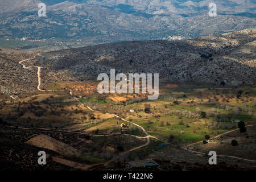
[[[243, 90], [242, 98], [237, 98]], [[163, 86], [160, 90], [171, 98], [159, 98], [154, 101], [141, 101], [119, 105], [101, 102], [96, 98], [84, 98], [83, 102], [107, 105], [107, 111], [115, 108], [124, 118], [144, 127], [151, 135], [169, 140], [172, 135], [174, 143], [192, 143], [203, 140], [205, 135], [224, 133], [237, 128], [236, 119], [253, 123], [255, 121], [255, 86], [240, 88], [209, 88], [208, 86]], [[173, 102], [178, 101], [175, 105]], [[101, 103], [100, 103], [101, 102]], [[150, 105], [150, 113], [145, 113], [145, 104]], [[236, 113], [238, 107], [239, 113]], [[244, 107], [244, 108], [243, 108]], [[134, 113], [129, 110], [134, 109]], [[249, 114], [248, 110], [252, 110]], [[207, 113], [202, 118], [200, 114]], [[106, 122], [108, 126], [108, 122]], [[103, 126], [103, 125], [101, 125]], [[112, 125], [110, 125], [112, 126]], [[99, 130], [109, 128], [99, 127]]]

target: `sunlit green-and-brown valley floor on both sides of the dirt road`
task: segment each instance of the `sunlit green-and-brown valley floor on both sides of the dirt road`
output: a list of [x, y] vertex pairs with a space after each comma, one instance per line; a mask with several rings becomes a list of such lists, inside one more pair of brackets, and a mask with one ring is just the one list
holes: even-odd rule
[[[84, 96], [80, 101], [97, 111], [90, 111], [73, 100], [68, 93], [45, 93], [20, 96], [19, 101], [1, 102], [0, 114], [14, 126], [51, 127], [86, 133], [109, 134], [126, 132], [142, 135], [130, 123], [121, 122], [106, 112], [137, 123], [151, 135], [174, 143], [192, 143], [237, 128], [237, 119], [255, 123], [256, 87], [210, 88], [209, 86], [160, 84], [158, 100], [114, 102], [108, 94], [93, 91], [93, 82], [52, 83], [50, 89], [69, 86]], [[77, 91], [76, 91], [77, 89]], [[242, 94], [238, 97], [238, 92]], [[122, 96], [123, 97], [123, 96]], [[138, 97], [138, 96], [136, 96]], [[3, 104], [5, 102], [5, 104]], [[150, 107], [145, 113], [144, 109]], [[129, 110], [134, 109], [131, 113]], [[39, 111], [43, 111], [40, 115]], [[205, 112], [202, 117], [201, 113]], [[121, 123], [127, 128], [122, 128]]]

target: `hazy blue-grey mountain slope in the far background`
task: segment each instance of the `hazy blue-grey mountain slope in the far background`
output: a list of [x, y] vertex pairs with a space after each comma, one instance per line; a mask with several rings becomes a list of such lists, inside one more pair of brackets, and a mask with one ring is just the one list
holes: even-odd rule
[[[38, 16], [38, 3], [47, 17]], [[0, 0], [0, 37], [82, 39], [88, 44], [152, 40], [168, 35], [193, 38], [256, 25], [253, 1], [7, 1]]]

